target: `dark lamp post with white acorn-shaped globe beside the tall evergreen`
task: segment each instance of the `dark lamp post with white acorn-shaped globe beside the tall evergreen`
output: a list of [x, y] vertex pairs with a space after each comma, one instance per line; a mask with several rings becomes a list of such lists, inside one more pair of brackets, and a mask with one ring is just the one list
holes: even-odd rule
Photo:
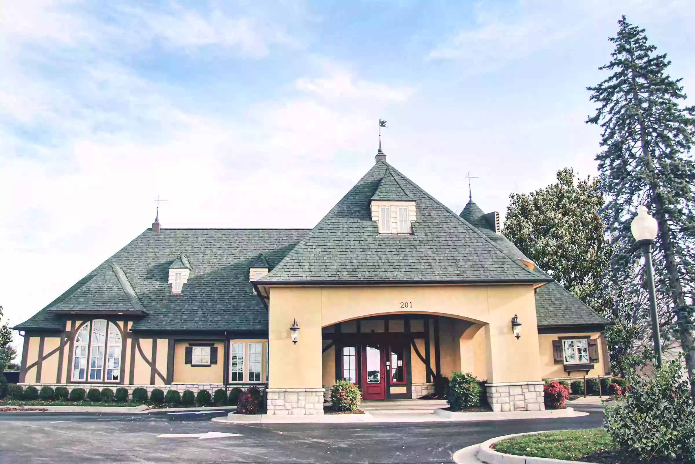
[[630, 224], [632, 236], [635, 237], [635, 248], [641, 247], [644, 253], [644, 265], [647, 271], [647, 287], [649, 290], [649, 310], [651, 312], [652, 333], [654, 337], [654, 354], [656, 355], [656, 365], [661, 367], [661, 335], [659, 333], [659, 320], [656, 314], [656, 289], [654, 287], [654, 268], [652, 265], [651, 254], [656, 234], [659, 226], [647, 211], [647, 207], [640, 205], [637, 208], [637, 216], [632, 219]]

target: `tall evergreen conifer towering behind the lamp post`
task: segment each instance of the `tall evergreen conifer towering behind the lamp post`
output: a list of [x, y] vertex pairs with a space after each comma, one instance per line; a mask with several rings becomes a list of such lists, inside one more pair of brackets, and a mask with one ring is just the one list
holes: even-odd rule
[[[610, 38], [615, 44], [612, 60], [599, 68], [612, 74], [588, 88], [598, 108], [587, 120], [603, 129], [603, 151], [596, 160], [607, 200], [601, 213], [614, 247], [611, 276], [623, 295], [631, 295], [627, 304], [644, 309], [644, 273], [639, 256], [630, 251], [630, 222], [637, 206], [644, 204], [659, 225], [653, 256], [657, 304], [665, 319], [660, 322], [670, 324], [672, 333], [665, 333], [666, 340], [669, 335], [680, 338], [688, 374], [695, 381], [695, 164], [689, 154], [695, 107], [680, 105], [685, 100], [681, 79], [667, 74], [671, 62], [655, 53], [644, 29], [628, 23], [625, 16], [618, 24], [618, 35]], [[636, 316], [648, 314], [632, 311]]]

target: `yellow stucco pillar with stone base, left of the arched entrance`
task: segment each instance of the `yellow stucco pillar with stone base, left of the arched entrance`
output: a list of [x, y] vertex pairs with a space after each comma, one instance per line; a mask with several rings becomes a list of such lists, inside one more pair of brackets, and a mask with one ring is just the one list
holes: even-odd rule
[[272, 287], [269, 306], [268, 414], [322, 414], [321, 290]]

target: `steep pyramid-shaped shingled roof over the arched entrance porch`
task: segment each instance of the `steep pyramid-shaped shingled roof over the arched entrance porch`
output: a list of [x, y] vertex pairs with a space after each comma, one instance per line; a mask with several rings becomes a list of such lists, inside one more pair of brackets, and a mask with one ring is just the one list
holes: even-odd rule
[[[370, 199], [387, 170], [416, 201], [413, 235], [379, 235], [372, 220]], [[260, 283], [549, 280], [509, 258], [479, 230], [380, 160]]]

